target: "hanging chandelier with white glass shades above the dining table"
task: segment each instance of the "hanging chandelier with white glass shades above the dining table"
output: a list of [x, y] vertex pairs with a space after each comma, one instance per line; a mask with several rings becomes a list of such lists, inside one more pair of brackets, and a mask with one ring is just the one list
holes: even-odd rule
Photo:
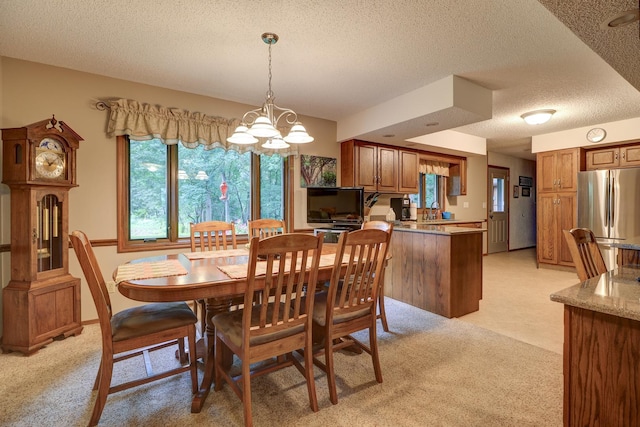
[[[269, 89], [267, 98], [262, 108], [247, 111], [242, 116], [242, 122], [233, 132], [228, 142], [235, 144], [255, 144], [258, 138], [267, 138], [263, 145], [265, 148], [279, 149], [289, 147], [291, 144], [304, 144], [313, 141], [313, 137], [307, 133], [305, 127], [298, 121], [295, 111], [288, 108], [280, 108], [274, 102], [273, 91], [271, 90], [271, 46], [278, 42], [278, 35], [274, 33], [264, 33], [262, 41], [269, 45]], [[291, 126], [289, 134], [282, 137], [278, 130], [278, 124], [282, 119]]]

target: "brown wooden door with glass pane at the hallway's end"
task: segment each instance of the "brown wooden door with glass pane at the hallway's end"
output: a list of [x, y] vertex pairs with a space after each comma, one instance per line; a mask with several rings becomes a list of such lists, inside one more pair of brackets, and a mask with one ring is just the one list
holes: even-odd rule
[[489, 167], [487, 252], [509, 250], [509, 169]]

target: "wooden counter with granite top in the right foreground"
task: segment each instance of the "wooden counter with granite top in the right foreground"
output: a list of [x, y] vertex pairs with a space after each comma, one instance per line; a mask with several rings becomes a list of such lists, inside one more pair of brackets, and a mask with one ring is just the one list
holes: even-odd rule
[[564, 425], [640, 425], [640, 268], [551, 295], [564, 304]]

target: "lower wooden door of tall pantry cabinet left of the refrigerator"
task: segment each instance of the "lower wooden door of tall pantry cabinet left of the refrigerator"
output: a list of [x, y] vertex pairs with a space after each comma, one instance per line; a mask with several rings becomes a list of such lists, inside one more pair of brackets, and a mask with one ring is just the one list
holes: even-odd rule
[[575, 192], [538, 193], [538, 263], [573, 266], [562, 230], [577, 224]]

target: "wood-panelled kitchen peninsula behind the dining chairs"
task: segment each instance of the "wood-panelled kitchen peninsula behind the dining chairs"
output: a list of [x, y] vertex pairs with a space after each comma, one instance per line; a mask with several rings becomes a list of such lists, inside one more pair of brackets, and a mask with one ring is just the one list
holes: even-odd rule
[[477, 311], [486, 230], [457, 225], [396, 225], [385, 295], [448, 318]]

